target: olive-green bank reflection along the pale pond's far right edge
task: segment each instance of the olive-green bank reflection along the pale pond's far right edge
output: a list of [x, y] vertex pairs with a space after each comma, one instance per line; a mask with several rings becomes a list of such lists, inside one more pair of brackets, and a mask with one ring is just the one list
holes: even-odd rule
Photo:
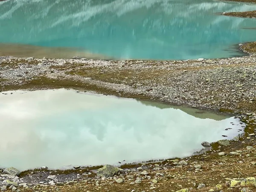
[[168, 108], [179, 109], [189, 115], [192, 115], [200, 119], [214, 119], [217, 121], [221, 121], [223, 119], [227, 119], [232, 116], [229, 114], [212, 113], [212, 111], [199, 110], [196, 108], [188, 108], [180, 105], [168, 105], [160, 102], [142, 101], [142, 100], [138, 100], [138, 101], [141, 102], [143, 105], [154, 106], [160, 109], [168, 109]]

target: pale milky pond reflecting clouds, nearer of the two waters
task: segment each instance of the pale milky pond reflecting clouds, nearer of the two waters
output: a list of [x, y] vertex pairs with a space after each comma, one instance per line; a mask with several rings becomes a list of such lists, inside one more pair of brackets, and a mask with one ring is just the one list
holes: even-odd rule
[[157, 102], [66, 89], [4, 93], [0, 167], [55, 169], [186, 157], [201, 150], [203, 141], [232, 139], [244, 129], [231, 116]]

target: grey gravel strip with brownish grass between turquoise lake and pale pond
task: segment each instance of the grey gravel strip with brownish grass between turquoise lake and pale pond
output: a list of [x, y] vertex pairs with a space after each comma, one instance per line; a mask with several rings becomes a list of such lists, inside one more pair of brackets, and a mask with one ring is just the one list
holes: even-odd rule
[[254, 113], [256, 56], [186, 61], [0, 57], [1, 91], [59, 87]]

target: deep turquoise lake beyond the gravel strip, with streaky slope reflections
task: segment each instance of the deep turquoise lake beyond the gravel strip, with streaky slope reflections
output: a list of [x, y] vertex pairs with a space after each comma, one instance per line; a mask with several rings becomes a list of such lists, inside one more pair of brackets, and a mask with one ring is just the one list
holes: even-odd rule
[[[6, 0], [0, 2], [0, 43], [5, 43], [0, 55], [155, 60], [241, 56], [238, 44], [256, 41], [256, 31], [244, 29], [255, 28], [256, 20], [219, 13], [251, 10], [256, 4], [217, 0]], [[28, 45], [41, 50], [35, 53]], [[70, 49], [73, 55], [58, 54], [52, 47]]]

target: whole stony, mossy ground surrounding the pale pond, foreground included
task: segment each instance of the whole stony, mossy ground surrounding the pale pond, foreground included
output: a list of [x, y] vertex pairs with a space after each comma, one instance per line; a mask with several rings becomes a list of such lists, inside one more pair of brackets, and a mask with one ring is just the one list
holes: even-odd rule
[[1, 191], [256, 191], [255, 43], [240, 46], [248, 56], [187, 61], [0, 57], [1, 91], [75, 88], [236, 113], [246, 123], [243, 137], [204, 143], [209, 151], [184, 159], [103, 169], [1, 169]]

